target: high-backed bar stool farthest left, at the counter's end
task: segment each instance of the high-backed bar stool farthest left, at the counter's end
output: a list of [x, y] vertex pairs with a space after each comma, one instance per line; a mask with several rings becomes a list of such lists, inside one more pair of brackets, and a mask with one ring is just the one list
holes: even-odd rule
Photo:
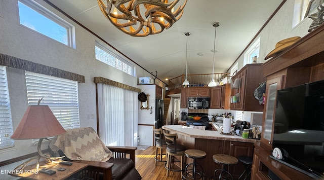
[[[166, 142], [166, 139], [164, 138], [163, 130], [161, 128], [155, 129], [155, 127], [153, 127], [153, 131], [155, 134], [155, 136], [154, 136], [154, 138], [155, 138], [155, 156], [154, 156], [155, 162], [154, 162], [154, 165], [156, 166], [156, 161], [167, 162], [167, 156], [166, 156], [166, 154], [163, 154], [163, 150], [167, 150], [167, 142]], [[159, 154], [157, 154], [158, 149], [160, 150]], [[159, 159], [157, 159], [158, 156], [159, 156]], [[162, 160], [163, 156], [166, 156], [165, 161]]]

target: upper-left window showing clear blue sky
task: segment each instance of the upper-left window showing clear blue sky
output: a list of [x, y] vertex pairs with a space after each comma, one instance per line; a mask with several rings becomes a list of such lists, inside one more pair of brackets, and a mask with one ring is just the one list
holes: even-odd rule
[[20, 24], [67, 46], [74, 46], [74, 27], [34, 1], [19, 0]]

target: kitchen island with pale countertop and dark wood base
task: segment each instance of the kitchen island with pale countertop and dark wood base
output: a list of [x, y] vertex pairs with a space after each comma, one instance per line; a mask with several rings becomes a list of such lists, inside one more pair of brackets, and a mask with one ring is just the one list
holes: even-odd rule
[[[214, 154], [253, 157], [254, 142], [259, 140], [245, 139], [237, 135], [225, 135], [221, 133], [222, 129], [216, 125], [216, 122], [210, 122], [210, 124], [217, 131], [194, 129], [182, 125], [166, 125], [162, 128], [170, 131], [170, 133], [177, 133], [177, 143], [184, 145], [187, 149], [198, 149], [207, 153], [205, 159], [197, 160], [197, 163], [203, 166], [207, 178], [214, 174], [215, 169], [221, 168], [221, 165], [213, 161]], [[234, 166], [230, 166], [228, 170], [234, 178], [238, 178], [245, 170], [245, 167], [239, 162]]]

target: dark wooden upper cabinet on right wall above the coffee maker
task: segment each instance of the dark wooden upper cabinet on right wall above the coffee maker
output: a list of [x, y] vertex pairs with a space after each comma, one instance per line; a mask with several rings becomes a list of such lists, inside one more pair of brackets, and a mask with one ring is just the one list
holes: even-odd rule
[[254, 97], [255, 89], [266, 80], [261, 63], [245, 65], [231, 80], [231, 110], [263, 111], [263, 104]]

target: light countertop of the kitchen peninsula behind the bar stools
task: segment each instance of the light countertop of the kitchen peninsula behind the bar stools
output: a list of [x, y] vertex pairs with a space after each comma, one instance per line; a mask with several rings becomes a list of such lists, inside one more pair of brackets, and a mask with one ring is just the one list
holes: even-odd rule
[[217, 139], [217, 140], [230, 140], [230, 141], [239, 141], [239, 142], [257, 142], [260, 141], [258, 139], [245, 139], [241, 136], [237, 135], [226, 135], [221, 134], [222, 129], [219, 128], [216, 124], [220, 124], [219, 122], [210, 122], [212, 126], [214, 126], [217, 131], [207, 131], [190, 128], [188, 126], [181, 125], [165, 125], [162, 126], [162, 129], [177, 131], [177, 133], [182, 134], [187, 137], [201, 138], [201, 139]]

